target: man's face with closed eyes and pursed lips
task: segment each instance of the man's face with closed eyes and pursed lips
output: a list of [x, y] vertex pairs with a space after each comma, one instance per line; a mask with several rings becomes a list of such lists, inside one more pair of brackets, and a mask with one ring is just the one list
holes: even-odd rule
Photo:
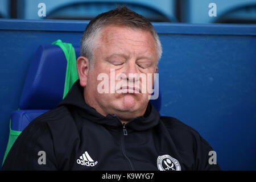
[[[147, 81], [154, 83], [154, 73], [157, 72], [154, 38], [148, 31], [106, 26], [97, 41], [93, 65], [88, 71], [85, 101], [102, 115], [115, 114], [123, 121], [143, 115], [150, 95]], [[131, 74], [129, 77], [129, 73], [133, 73], [133, 77]], [[108, 75], [108, 80], [99, 77], [101, 75]], [[146, 76], [147, 81], [139, 75]], [[108, 92], [99, 92], [102, 89]]]

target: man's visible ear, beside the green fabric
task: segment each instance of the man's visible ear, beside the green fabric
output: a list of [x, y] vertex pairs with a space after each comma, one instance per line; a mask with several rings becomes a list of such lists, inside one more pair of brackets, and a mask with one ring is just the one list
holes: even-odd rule
[[80, 79], [80, 85], [84, 87], [87, 84], [87, 77], [89, 72], [89, 60], [87, 57], [80, 56], [77, 58], [76, 68]]

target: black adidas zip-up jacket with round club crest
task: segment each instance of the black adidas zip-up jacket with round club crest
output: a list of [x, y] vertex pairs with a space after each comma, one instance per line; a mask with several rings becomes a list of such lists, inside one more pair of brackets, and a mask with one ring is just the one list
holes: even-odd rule
[[[77, 81], [63, 101], [34, 119], [2, 170], [218, 170], [197, 131], [148, 104], [126, 125], [87, 105]], [[44, 154], [42, 154], [42, 151]], [[44, 163], [45, 159], [45, 163]]]

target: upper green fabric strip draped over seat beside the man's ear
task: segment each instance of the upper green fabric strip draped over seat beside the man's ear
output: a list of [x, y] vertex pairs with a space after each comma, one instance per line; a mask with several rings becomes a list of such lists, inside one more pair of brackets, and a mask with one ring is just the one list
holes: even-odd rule
[[68, 91], [71, 89], [73, 84], [79, 78], [77, 69], [76, 69], [76, 52], [72, 44], [63, 43], [61, 40], [57, 40], [52, 44], [60, 46], [67, 60], [67, 70], [66, 70], [65, 85], [64, 85], [64, 92], [63, 92], [63, 98], [65, 98]]

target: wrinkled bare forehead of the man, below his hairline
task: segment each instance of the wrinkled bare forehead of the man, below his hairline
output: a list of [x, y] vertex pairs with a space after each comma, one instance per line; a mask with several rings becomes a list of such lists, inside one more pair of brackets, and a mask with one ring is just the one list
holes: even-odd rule
[[150, 31], [125, 26], [109, 25], [101, 30], [99, 45], [107, 52], [132, 51], [133, 53], [149, 53], [156, 55], [155, 40]]

